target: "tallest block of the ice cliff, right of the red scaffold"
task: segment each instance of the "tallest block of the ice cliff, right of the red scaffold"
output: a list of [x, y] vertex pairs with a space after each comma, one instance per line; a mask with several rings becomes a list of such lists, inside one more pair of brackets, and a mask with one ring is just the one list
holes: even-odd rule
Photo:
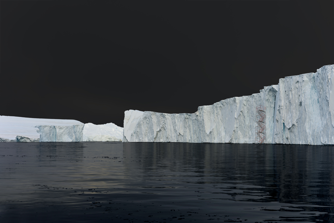
[[273, 143], [334, 144], [334, 65], [280, 79]]

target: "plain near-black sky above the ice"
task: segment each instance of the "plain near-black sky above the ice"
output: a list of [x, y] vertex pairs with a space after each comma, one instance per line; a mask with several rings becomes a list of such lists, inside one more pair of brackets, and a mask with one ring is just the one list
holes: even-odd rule
[[0, 115], [123, 126], [334, 64], [334, 1], [0, 4]]

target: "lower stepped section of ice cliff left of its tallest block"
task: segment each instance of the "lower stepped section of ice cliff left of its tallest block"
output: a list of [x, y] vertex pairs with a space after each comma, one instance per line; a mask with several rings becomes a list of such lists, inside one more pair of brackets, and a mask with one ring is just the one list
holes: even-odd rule
[[[266, 107], [271, 107], [268, 109], [267, 119], [271, 117], [273, 120], [276, 92], [277, 86], [265, 87], [258, 94], [200, 106], [193, 114], [145, 111], [138, 116], [138, 112], [133, 110], [125, 111], [124, 122], [127, 125], [124, 125], [124, 136], [130, 142], [253, 143], [256, 116], [254, 105], [261, 102]], [[137, 117], [132, 118], [133, 114]], [[133, 121], [129, 124], [131, 119]], [[127, 128], [130, 125], [132, 128]], [[272, 129], [272, 126], [273, 123], [267, 124], [267, 128]]]

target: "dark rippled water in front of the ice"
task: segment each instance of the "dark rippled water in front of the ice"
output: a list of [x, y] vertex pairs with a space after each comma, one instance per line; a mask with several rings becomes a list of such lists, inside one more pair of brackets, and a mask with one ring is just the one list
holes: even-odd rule
[[0, 143], [0, 222], [334, 222], [334, 147]]

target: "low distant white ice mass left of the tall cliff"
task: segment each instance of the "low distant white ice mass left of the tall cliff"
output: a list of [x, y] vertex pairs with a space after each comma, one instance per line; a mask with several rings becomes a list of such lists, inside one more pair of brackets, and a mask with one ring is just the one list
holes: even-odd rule
[[76, 120], [0, 116], [0, 142], [122, 141], [123, 128]]

